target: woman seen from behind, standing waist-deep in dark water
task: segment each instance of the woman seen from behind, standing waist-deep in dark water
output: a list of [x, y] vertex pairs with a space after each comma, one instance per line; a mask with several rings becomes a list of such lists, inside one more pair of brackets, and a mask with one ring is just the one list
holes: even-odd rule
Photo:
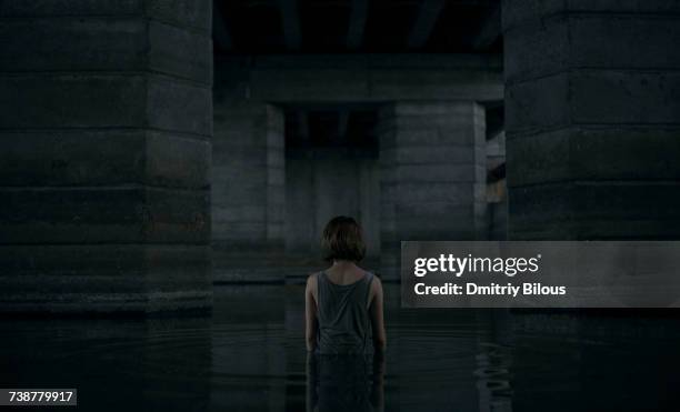
[[366, 254], [361, 228], [333, 218], [323, 230], [324, 259], [332, 265], [307, 280], [307, 350], [318, 354], [382, 353], [387, 339], [382, 284], [357, 263]]

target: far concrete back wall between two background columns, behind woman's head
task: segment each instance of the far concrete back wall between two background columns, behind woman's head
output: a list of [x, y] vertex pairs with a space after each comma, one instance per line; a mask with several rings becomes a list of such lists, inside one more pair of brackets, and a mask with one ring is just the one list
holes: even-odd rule
[[348, 148], [288, 151], [286, 160], [286, 250], [320, 255], [328, 221], [339, 214], [361, 224], [367, 255], [380, 254], [379, 163]]

